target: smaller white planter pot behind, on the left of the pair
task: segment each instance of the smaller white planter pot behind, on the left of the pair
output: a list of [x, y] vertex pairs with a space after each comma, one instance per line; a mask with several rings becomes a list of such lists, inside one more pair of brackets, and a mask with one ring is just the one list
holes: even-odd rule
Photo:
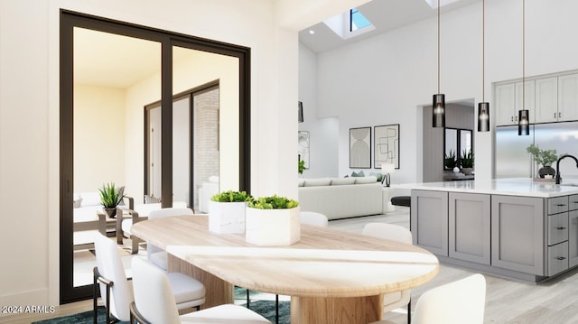
[[213, 233], [245, 233], [247, 202], [209, 202], [209, 231]]

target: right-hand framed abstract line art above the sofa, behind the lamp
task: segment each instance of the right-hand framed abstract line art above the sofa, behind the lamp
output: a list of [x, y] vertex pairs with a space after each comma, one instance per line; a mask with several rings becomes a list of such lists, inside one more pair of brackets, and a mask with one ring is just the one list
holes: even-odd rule
[[373, 127], [374, 168], [380, 169], [382, 163], [393, 163], [399, 169], [399, 124]]

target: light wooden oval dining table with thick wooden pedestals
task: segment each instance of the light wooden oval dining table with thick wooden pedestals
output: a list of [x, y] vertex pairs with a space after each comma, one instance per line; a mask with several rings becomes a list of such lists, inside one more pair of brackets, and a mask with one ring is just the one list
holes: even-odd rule
[[291, 296], [293, 324], [383, 319], [384, 293], [414, 288], [439, 271], [421, 247], [324, 227], [302, 225], [297, 243], [275, 247], [211, 233], [206, 215], [150, 219], [131, 231], [167, 250], [170, 272], [205, 284], [202, 308], [233, 302], [239, 286]]

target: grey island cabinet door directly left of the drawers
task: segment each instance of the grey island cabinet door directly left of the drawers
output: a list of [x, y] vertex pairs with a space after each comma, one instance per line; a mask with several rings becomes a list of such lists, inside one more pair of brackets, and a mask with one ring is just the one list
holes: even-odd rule
[[491, 264], [545, 275], [544, 199], [491, 196]]

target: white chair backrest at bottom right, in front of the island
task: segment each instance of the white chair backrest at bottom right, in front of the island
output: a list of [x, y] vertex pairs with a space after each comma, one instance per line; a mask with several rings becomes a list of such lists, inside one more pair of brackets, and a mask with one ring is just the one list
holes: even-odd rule
[[486, 304], [486, 279], [480, 273], [424, 292], [415, 305], [415, 324], [481, 324]]

